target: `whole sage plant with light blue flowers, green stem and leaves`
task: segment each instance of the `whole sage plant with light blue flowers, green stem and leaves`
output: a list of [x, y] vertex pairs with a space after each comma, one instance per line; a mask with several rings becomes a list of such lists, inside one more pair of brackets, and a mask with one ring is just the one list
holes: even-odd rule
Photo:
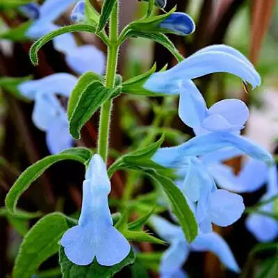
[[[224, 44], [205, 47], [184, 58], [165, 34], [190, 35], [195, 23], [190, 15], [177, 13], [175, 8], [166, 12], [167, 1], [145, 1], [145, 15], [119, 32], [119, 2], [102, 1], [100, 13], [89, 0], [46, 0], [42, 6], [18, 6], [20, 13], [33, 19], [24, 33], [36, 39], [30, 49], [33, 65], [40, 63], [38, 51], [53, 40], [54, 48], [65, 55], [67, 64], [79, 76], [57, 73], [17, 86], [23, 97], [34, 101], [33, 123], [46, 132], [51, 155], [28, 167], [6, 195], [8, 215], [24, 220], [41, 217], [24, 236], [13, 277], [40, 275], [39, 266], [57, 252], [58, 272], [63, 277], [113, 277], [125, 266], [132, 269], [142, 263], [144, 253], [137, 247], [133, 251], [133, 246], [142, 242], [170, 245], [159, 256], [156, 268], [164, 278], [186, 277], [183, 265], [191, 251], [213, 252], [224, 267], [240, 272], [229, 245], [213, 231], [213, 224], [227, 227], [236, 222], [245, 211], [239, 193], [252, 192], [266, 180], [268, 190], [262, 201], [277, 195], [277, 170], [267, 150], [240, 134], [250, 114], [247, 105], [239, 99], [224, 99], [208, 108], [193, 80], [225, 72], [238, 76], [245, 88], [256, 88], [261, 85], [261, 77], [243, 54]], [[54, 21], [72, 4], [76, 6], [71, 24], [56, 25]], [[156, 9], [161, 9], [161, 15], [156, 15]], [[92, 45], [77, 44], [73, 32], [97, 35], [106, 44], [107, 53]], [[126, 40], [134, 37], [162, 44], [177, 59], [177, 65], [157, 71], [154, 66], [123, 81], [117, 73], [119, 51]], [[156, 140], [156, 133], [149, 132], [139, 147], [131, 146], [129, 152], [108, 163], [113, 102], [122, 94], [163, 99], [179, 95], [175, 112], [195, 136], [165, 147], [165, 135]], [[67, 99], [67, 104], [58, 96]], [[163, 109], [167, 114], [167, 107]], [[81, 129], [98, 110], [97, 149], [72, 147], [74, 140], [82, 139]], [[250, 156], [250, 160], [236, 176], [222, 162], [239, 155]], [[31, 183], [51, 165], [64, 160], [85, 166], [81, 213], [42, 215], [19, 209], [19, 197]], [[252, 176], [254, 171], [260, 172], [256, 178]], [[115, 202], [109, 197], [111, 178], [119, 172], [130, 176], [122, 199]], [[139, 204], [138, 199], [131, 199], [136, 177], [148, 177], [154, 184], [151, 193], [141, 196], [150, 210], [134, 210]], [[111, 204], [117, 209], [115, 213], [111, 213]], [[156, 208], [168, 212], [168, 219], [158, 215]], [[263, 205], [265, 212], [273, 209], [272, 203]], [[270, 231], [260, 229], [261, 223]], [[277, 222], [256, 211], [246, 224], [261, 241], [271, 240], [278, 233]], [[145, 225], [155, 234], [144, 229]]]

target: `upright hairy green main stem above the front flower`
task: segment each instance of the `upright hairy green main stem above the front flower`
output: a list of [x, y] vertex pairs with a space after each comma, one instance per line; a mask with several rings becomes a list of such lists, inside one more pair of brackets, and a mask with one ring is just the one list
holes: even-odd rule
[[[110, 18], [109, 30], [109, 44], [108, 44], [108, 58], [106, 63], [106, 87], [113, 88], [115, 84], [115, 76], [117, 72], [117, 54], [119, 46], [117, 44], [117, 3], [113, 8]], [[99, 140], [98, 153], [106, 163], [108, 154], [109, 130], [111, 110], [113, 106], [112, 99], [109, 99], [101, 106], [99, 119]]]

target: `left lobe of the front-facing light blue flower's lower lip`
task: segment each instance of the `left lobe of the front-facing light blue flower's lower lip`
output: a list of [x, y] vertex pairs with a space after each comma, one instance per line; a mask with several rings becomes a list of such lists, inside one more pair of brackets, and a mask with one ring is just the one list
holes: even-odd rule
[[76, 265], [88, 265], [95, 258], [94, 238], [90, 225], [81, 227], [75, 226], [67, 230], [60, 240], [65, 248], [67, 259]]

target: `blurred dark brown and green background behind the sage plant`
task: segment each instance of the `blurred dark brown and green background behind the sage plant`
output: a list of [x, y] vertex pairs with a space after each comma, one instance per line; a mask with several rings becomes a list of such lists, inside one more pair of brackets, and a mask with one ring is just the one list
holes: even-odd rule
[[[120, 28], [145, 13], [145, 2], [121, 0]], [[99, 10], [99, 1], [92, 1]], [[276, 154], [278, 138], [278, 3], [275, 0], [167, 0], [166, 10], [177, 5], [177, 10], [188, 13], [196, 23], [196, 31], [188, 37], [170, 35], [171, 40], [183, 56], [189, 56], [198, 49], [211, 44], [229, 44], [250, 58], [261, 74], [263, 83], [260, 88], [247, 94], [240, 80], [229, 74], [214, 74], [196, 80], [208, 106], [220, 99], [238, 97], [250, 106], [251, 116], [245, 133], [252, 140]], [[24, 22], [24, 17], [0, 10], [0, 31], [13, 28]], [[58, 24], [69, 24], [70, 10], [58, 19]], [[1, 32], [0, 32], [1, 34]], [[97, 45], [102, 51], [105, 46], [97, 38], [88, 34], [76, 34], [77, 40]], [[54, 72], [71, 72], [67, 67], [63, 54], [54, 50], [48, 43], [39, 53], [40, 63], [33, 67], [28, 58], [29, 40], [1, 40], [0, 35], [0, 76], [23, 77], [32, 76], [40, 79]], [[158, 69], [165, 64], [174, 65], [172, 55], [161, 47], [145, 39], [131, 39], [120, 51], [118, 72], [124, 80], [149, 70], [156, 62]], [[12, 93], [11, 93], [12, 92]], [[147, 97], [130, 97], [121, 95], [115, 99], [111, 127], [110, 162], [126, 149], [136, 147], [145, 137], [149, 124], [156, 114], [156, 107], [162, 99]], [[164, 123], [167, 127], [167, 143], [177, 145], [193, 136], [190, 129], [179, 120], [175, 111], [177, 99], [170, 99], [163, 104], [169, 111], [169, 119]], [[45, 145], [45, 136], [31, 120], [33, 103], [22, 101], [15, 90], [0, 88], [0, 206], [4, 206], [4, 198], [10, 186], [19, 174], [35, 161], [49, 155]], [[171, 112], [171, 113], [170, 113]], [[96, 147], [98, 117], [96, 114], [82, 131], [79, 146]], [[159, 130], [157, 135], [159, 136]], [[132, 146], [131, 146], [132, 145]], [[240, 159], [229, 161], [235, 171], [240, 170]], [[26, 211], [64, 211], [75, 213], [81, 208], [81, 185], [83, 166], [79, 163], [57, 163], [36, 181], [19, 200], [19, 206]], [[120, 199], [124, 191], [126, 176], [117, 173], [113, 177], [111, 199]], [[143, 187], [135, 194], [148, 192], [149, 183], [138, 180]], [[252, 194], [245, 194], [245, 206], [258, 202], [264, 189]], [[9, 277], [13, 261], [22, 241], [22, 235], [35, 220], [26, 222], [5, 217], [0, 213], [0, 278]], [[242, 268], [239, 277], [278, 277], [278, 252], [258, 251], [259, 245], [245, 228], [245, 217], [232, 227], [215, 228], [221, 234]], [[47, 231], [46, 231], [47, 232]], [[140, 250], [148, 252], [157, 247], [141, 244]], [[49, 259], [41, 270], [57, 266], [57, 257]], [[213, 254], [191, 253], [185, 269], [189, 277], [238, 277], [224, 270]], [[128, 272], [126, 272], [128, 273]], [[129, 274], [125, 274], [129, 277]], [[157, 277], [154, 272], [152, 277]], [[126, 277], [119, 274], [119, 277]], [[54, 276], [44, 276], [54, 277]], [[59, 277], [59, 275], [57, 275]]]

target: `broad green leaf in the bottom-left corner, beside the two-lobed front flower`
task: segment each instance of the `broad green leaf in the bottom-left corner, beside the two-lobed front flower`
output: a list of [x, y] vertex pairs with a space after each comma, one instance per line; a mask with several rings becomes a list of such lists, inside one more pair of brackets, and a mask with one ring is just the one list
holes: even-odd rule
[[39, 220], [24, 237], [15, 260], [13, 277], [32, 277], [41, 263], [58, 252], [58, 241], [67, 229], [62, 213], [51, 213]]

